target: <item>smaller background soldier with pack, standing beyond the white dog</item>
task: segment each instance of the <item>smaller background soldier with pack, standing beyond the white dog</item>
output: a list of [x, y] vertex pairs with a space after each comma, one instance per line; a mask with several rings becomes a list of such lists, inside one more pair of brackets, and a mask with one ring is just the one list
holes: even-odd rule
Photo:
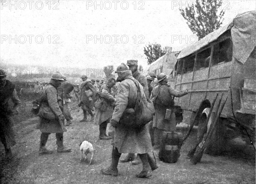
[[83, 113], [84, 113], [84, 119], [82, 119], [80, 122], [87, 122], [87, 111], [91, 116], [91, 120], [94, 120], [94, 115], [92, 113], [93, 110], [93, 102], [96, 96], [96, 89], [92, 84], [91, 80], [87, 79], [86, 75], [83, 75], [82, 77], [83, 83], [80, 87], [80, 103], [79, 107], [81, 106]]

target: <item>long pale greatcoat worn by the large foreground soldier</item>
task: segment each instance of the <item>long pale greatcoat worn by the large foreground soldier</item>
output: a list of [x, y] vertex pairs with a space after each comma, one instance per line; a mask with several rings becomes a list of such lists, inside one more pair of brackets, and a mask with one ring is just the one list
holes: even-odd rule
[[[125, 110], [135, 107], [135, 101], [137, 99], [137, 88], [131, 79], [137, 80], [131, 75], [131, 71], [125, 71], [122, 74], [124, 76], [122, 76], [122, 82], [120, 82], [117, 88], [116, 107], [112, 116], [112, 119], [117, 122], [119, 122]], [[146, 102], [143, 87], [138, 81], [137, 84], [140, 86], [143, 101]], [[141, 129], [133, 129], [125, 127], [119, 122], [116, 127], [116, 139], [112, 139], [112, 145], [116, 146], [119, 153], [143, 154], [150, 152], [152, 147], [148, 125], [145, 125]]]

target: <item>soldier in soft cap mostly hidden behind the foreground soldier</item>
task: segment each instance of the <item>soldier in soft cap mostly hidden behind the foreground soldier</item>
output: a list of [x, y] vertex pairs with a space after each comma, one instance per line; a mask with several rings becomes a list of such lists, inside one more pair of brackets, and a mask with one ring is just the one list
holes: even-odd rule
[[[134, 79], [136, 79], [138, 82], [140, 82], [140, 84], [143, 86], [143, 91], [144, 94], [146, 96], [146, 99], [148, 99], [148, 82], [146, 77], [141, 74], [138, 71], [138, 60], [128, 60], [127, 64], [129, 66], [129, 70], [131, 70], [132, 76], [134, 77]], [[138, 158], [136, 160], [134, 160], [135, 154], [128, 154], [125, 159], [121, 159], [121, 162], [127, 162], [127, 161], [132, 161], [132, 164], [140, 164], [140, 161], [138, 160]]]

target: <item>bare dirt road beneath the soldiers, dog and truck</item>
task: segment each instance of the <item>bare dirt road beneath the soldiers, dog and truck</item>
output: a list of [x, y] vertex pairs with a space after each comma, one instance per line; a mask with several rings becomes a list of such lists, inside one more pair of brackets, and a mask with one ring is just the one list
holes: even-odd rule
[[[17, 144], [12, 147], [14, 158], [4, 161], [3, 146], [0, 145], [1, 184], [253, 184], [255, 183], [255, 151], [239, 139], [230, 142], [224, 156], [204, 154], [200, 163], [192, 165], [186, 153], [195, 143], [195, 131], [183, 145], [177, 163], [168, 164], [157, 159], [159, 168], [151, 178], [139, 179], [135, 174], [142, 165], [119, 163], [119, 175], [104, 176], [100, 169], [111, 163], [110, 140], [98, 139], [99, 127], [93, 122], [79, 122], [81, 111], [73, 104], [73, 124], [64, 133], [64, 144], [72, 148], [71, 153], [57, 153], [55, 134], [51, 134], [47, 148], [51, 155], [38, 155], [40, 130], [35, 129], [38, 118], [32, 118], [15, 126]], [[186, 127], [178, 128], [185, 133]], [[90, 167], [88, 160], [79, 162], [79, 141], [87, 140], [96, 150]], [[154, 152], [157, 156], [157, 152]], [[123, 157], [122, 155], [121, 157]]]

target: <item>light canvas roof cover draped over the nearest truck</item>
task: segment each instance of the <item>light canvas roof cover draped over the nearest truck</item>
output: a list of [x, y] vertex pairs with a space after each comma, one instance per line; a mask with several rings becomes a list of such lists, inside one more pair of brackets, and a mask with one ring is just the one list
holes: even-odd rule
[[256, 11], [247, 11], [238, 14], [229, 24], [213, 31], [201, 40], [180, 51], [177, 59], [189, 56], [218, 39], [218, 37], [231, 29], [233, 41], [233, 56], [241, 63], [245, 63], [256, 46]]

